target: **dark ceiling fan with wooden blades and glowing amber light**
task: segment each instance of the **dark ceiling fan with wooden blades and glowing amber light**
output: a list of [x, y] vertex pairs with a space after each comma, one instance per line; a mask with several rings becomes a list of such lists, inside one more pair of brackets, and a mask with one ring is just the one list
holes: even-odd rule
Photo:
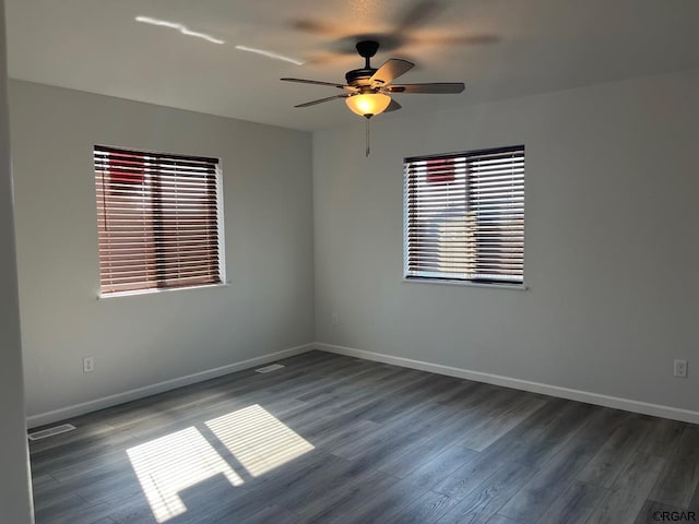
[[395, 79], [410, 71], [415, 64], [407, 60], [391, 58], [383, 62], [380, 68], [375, 69], [371, 67], [370, 59], [379, 49], [379, 43], [362, 40], [357, 43], [356, 49], [359, 56], [365, 59], [365, 64], [362, 69], [353, 69], [345, 73], [346, 84], [335, 84], [317, 80], [281, 79], [284, 82], [327, 85], [345, 92], [341, 95], [307, 102], [294, 107], [315, 106], [323, 102], [344, 98], [347, 107], [350, 107], [353, 112], [369, 119], [381, 112], [394, 111], [401, 108], [401, 105], [391, 98], [391, 94], [449, 94], [461, 93], [464, 90], [463, 82], [393, 84], [392, 82]]

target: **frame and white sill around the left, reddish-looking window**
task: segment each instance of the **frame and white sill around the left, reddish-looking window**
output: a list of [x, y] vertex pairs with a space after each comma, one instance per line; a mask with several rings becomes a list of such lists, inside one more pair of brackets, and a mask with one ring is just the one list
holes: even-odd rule
[[[100, 205], [105, 205], [106, 201], [103, 201], [102, 204], [99, 203], [98, 199], [99, 199], [99, 183], [103, 184], [103, 191], [106, 190], [106, 184], [104, 182], [104, 178], [105, 178], [105, 174], [103, 172], [100, 175], [100, 171], [97, 168], [97, 163], [96, 163], [96, 155], [97, 152], [115, 152], [115, 153], [122, 153], [122, 154], [134, 154], [134, 155], [142, 155], [143, 157], [146, 157], [149, 155], [155, 157], [155, 158], [165, 158], [168, 160], [182, 160], [182, 162], [201, 162], [201, 163], [210, 163], [214, 166], [214, 176], [213, 176], [213, 181], [215, 184], [215, 219], [216, 219], [216, 258], [217, 258], [217, 270], [218, 270], [218, 276], [216, 282], [210, 282], [210, 283], [201, 283], [201, 284], [186, 284], [186, 285], [164, 285], [164, 286], [156, 286], [156, 287], [151, 287], [147, 286], [149, 283], [151, 282], [157, 282], [157, 279], [153, 281], [152, 278], [150, 279], [144, 279], [143, 281], [143, 285], [144, 287], [138, 288], [138, 289], [121, 289], [121, 290], [106, 290], [105, 291], [105, 286], [103, 284], [103, 262], [100, 260], [100, 255], [99, 255], [99, 251], [103, 248], [103, 240], [99, 238], [99, 234], [100, 234], [100, 226], [99, 226], [99, 206]], [[98, 248], [98, 257], [97, 257], [97, 267], [98, 267], [98, 293], [97, 293], [97, 298], [98, 299], [105, 299], [105, 298], [112, 298], [112, 297], [122, 297], [122, 296], [132, 296], [132, 295], [149, 295], [149, 294], [157, 294], [157, 293], [169, 293], [169, 291], [179, 291], [179, 290], [185, 290], [185, 289], [205, 289], [205, 288], [213, 288], [213, 287], [226, 287], [228, 286], [228, 282], [226, 279], [226, 263], [225, 263], [225, 221], [224, 221], [224, 188], [223, 188], [223, 163], [222, 159], [218, 157], [212, 157], [212, 156], [199, 156], [199, 155], [188, 155], [188, 154], [181, 154], [181, 153], [167, 153], [167, 152], [162, 152], [162, 151], [154, 151], [154, 150], [144, 150], [144, 148], [135, 148], [135, 147], [125, 147], [125, 146], [115, 146], [115, 145], [106, 145], [106, 144], [94, 144], [93, 148], [93, 175], [94, 175], [94, 188], [95, 188], [95, 212], [96, 212], [96, 218], [97, 218], [97, 248]], [[102, 178], [102, 182], [98, 182], [98, 178]], [[157, 182], [157, 184], [159, 184], [159, 181]], [[152, 212], [152, 210], [155, 209], [155, 204], [152, 202], [151, 203], [151, 207], [150, 207], [150, 212]], [[105, 209], [105, 213], [106, 213], [106, 209]], [[161, 215], [162, 218], [162, 215]], [[155, 217], [152, 218], [152, 223], [153, 224], [157, 224], [157, 219]], [[155, 236], [153, 237], [155, 239]], [[154, 242], [156, 240], [153, 240]], [[211, 251], [210, 251], [211, 252]], [[141, 260], [145, 261], [146, 257], [142, 255]], [[162, 264], [162, 262], [161, 262]], [[158, 271], [156, 269], [156, 271]]]

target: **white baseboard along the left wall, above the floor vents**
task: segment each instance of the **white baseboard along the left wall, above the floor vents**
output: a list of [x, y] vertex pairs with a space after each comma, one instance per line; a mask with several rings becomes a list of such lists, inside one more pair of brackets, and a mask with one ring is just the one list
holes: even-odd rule
[[46, 424], [57, 422], [67, 418], [76, 417], [86, 413], [104, 409], [105, 407], [116, 406], [126, 402], [137, 401], [146, 396], [164, 393], [169, 390], [182, 388], [185, 385], [194, 384], [197, 382], [203, 382], [204, 380], [215, 379], [229, 374], [242, 369], [254, 368], [261, 364], [268, 364], [282, 358], [293, 357], [294, 355], [300, 355], [301, 353], [316, 349], [316, 344], [304, 344], [303, 346], [291, 347], [276, 353], [270, 353], [261, 357], [250, 358], [239, 362], [228, 364], [220, 368], [209, 369], [200, 371], [198, 373], [188, 374], [186, 377], [179, 377], [177, 379], [166, 380], [156, 384], [138, 388], [135, 390], [125, 391], [123, 393], [117, 393], [116, 395], [103, 396], [94, 401], [83, 402], [72, 406], [61, 407], [52, 412], [42, 413], [38, 415], [32, 415], [27, 417], [26, 424], [29, 429]]

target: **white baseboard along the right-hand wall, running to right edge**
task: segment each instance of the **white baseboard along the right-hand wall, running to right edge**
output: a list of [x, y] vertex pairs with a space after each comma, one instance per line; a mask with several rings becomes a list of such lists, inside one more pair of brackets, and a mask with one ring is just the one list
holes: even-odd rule
[[413, 360], [410, 358], [393, 357], [390, 355], [382, 355], [380, 353], [336, 346], [333, 344], [316, 343], [315, 347], [323, 352], [336, 353], [339, 355], [345, 355], [348, 357], [364, 358], [366, 360], [375, 360], [377, 362], [391, 364], [394, 366], [401, 366], [403, 368], [418, 369], [422, 371], [429, 371], [431, 373], [446, 374], [449, 377], [457, 377], [460, 379], [467, 379], [476, 382], [485, 382], [488, 384], [513, 388], [516, 390], [531, 391], [533, 393], [542, 393], [560, 398], [568, 398], [570, 401], [585, 402], [588, 404], [595, 404], [597, 406], [613, 407], [615, 409], [624, 409], [626, 412], [641, 413], [643, 415], [652, 415], [655, 417], [670, 418], [673, 420], [699, 424], [699, 412], [691, 412], [689, 409], [680, 409], [677, 407], [663, 406], [660, 404], [649, 404], [647, 402], [602, 395], [589, 391], [571, 390], [569, 388], [561, 388], [559, 385], [550, 385], [540, 382], [531, 382], [529, 380], [512, 379], [510, 377], [483, 373], [481, 371], [471, 371], [469, 369], [441, 366], [439, 364], [430, 364], [422, 360]]

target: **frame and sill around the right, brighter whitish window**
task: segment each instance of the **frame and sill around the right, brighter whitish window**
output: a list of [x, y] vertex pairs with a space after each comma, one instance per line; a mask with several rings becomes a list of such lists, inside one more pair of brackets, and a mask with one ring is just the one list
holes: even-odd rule
[[[477, 158], [483, 157], [485, 155], [498, 155], [498, 154], [521, 154], [522, 162], [524, 166], [522, 167], [521, 174], [521, 214], [522, 214], [522, 225], [521, 225], [521, 275], [519, 279], [508, 281], [506, 278], [497, 279], [497, 278], [479, 278], [473, 277], [459, 277], [454, 273], [453, 276], [433, 276], [427, 273], [428, 271], [423, 271], [423, 274], [411, 274], [417, 273], [418, 270], [411, 267], [410, 255], [411, 255], [411, 204], [410, 198], [414, 192], [412, 192], [408, 188], [410, 182], [410, 172], [408, 165], [410, 163], [423, 162], [423, 160], [449, 160], [451, 158], [464, 158], [464, 164], [467, 165], [469, 158]], [[525, 146], [523, 144], [511, 145], [511, 146], [501, 146], [501, 147], [489, 147], [489, 148], [481, 148], [481, 150], [471, 150], [471, 151], [462, 151], [462, 152], [452, 152], [452, 153], [440, 153], [433, 155], [420, 155], [420, 156], [411, 156], [403, 158], [403, 270], [402, 276], [404, 283], [418, 283], [418, 284], [438, 284], [438, 285], [457, 285], [457, 286], [467, 286], [467, 287], [494, 287], [494, 288], [503, 288], [503, 289], [519, 289], [525, 290], [529, 287], [524, 282], [524, 245], [525, 245], [525, 225], [524, 225], [524, 195], [525, 195]], [[465, 194], [464, 194], [464, 206], [467, 206], [469, 203], [469, 186], [464, 183]], [[505, 207], [505, 206], [503, 206]], [[464, 245], [465, 246], [465, 242]], [[439, 272], [434, 272], [439, 273]], [[443, 272], [446, 273], [446, 272]]]

